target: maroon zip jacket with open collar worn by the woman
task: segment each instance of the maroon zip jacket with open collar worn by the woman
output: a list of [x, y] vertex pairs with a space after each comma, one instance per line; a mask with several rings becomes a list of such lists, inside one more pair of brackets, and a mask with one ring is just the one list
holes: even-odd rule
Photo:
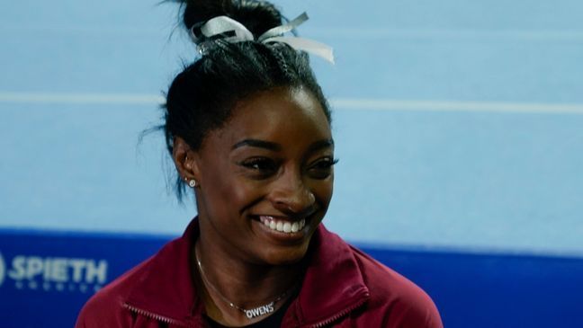
[[[76, 328], [206, 327], [191, 279], [195, 219], [184, 235], [97, 292]], [[423, 290], [320, 225], [299, 296], [282, 327], [442, 328]]]

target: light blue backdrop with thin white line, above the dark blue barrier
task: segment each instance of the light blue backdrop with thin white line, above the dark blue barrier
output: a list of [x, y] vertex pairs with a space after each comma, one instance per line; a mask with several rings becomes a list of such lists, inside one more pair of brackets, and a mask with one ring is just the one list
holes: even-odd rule
[[[313, 58], [340, 158], [330, 229], [383, 249], [583, 259], [583, 3], [277, 4], [336, 51], [336, 66]], [[176, 12], [2, 5], [0, 228], [183, 230], [195, 211], [166, 192], [162, 136], [138, 140], [195, 54]]]

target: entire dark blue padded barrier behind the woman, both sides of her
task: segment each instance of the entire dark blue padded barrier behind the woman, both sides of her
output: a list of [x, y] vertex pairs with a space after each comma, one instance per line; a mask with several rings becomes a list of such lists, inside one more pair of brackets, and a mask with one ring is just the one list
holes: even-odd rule
[[[170, 238], [0, 229], [2, 326], [72, 326], [95, 288]], [[583, 259], [361, 246], [424, 288], [448, 328], [583, 326]]]

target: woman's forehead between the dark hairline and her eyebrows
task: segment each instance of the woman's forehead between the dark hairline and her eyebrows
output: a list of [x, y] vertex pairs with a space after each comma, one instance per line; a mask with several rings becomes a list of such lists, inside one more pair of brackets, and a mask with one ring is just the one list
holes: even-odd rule
[[322, 106], [301, 88], [278, 88], [238, 102], [217, 137], [232, 144], [256, 138], [278, 143], [330, 139]]

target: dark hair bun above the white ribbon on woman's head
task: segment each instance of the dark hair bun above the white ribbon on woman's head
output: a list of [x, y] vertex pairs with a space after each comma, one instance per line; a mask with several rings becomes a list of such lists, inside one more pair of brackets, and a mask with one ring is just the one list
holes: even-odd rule
[[282, 24], [282, 13], [274, 4], [258, 0], [178, 0], [184, 5], [183, 22], [190, 30], [213, 17], [229, 16], [256, 37]]

